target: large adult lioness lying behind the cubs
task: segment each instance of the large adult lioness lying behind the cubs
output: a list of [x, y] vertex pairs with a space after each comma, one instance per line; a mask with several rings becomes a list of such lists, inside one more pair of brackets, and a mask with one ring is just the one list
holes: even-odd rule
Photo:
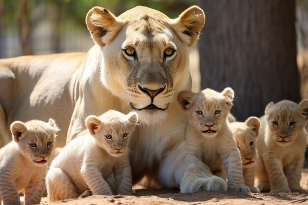
[[176, 97], [191, 89], [189, 50], [204, 26], [204, 12], [191, 6], [170, 19], [137, 6], [116, 17], [93, 7], [86, 23], [95, 42], [87, 56], [0, 61], [0, 104], [6, 114], [1, 123], [53, 117], [62, 128], [58, 146], [63, 146], [68, 125], [67, 142], [86, 128], [89, 115], [136, 111], [141, 125], [130, 144], [133, 181], [147, 175], [165, 187], [179, 187], [186, 117]]

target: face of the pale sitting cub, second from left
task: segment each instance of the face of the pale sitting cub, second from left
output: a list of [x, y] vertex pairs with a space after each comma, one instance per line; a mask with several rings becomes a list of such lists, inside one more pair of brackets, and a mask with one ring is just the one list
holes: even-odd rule
[[137, 114], [134, 112], [124, 115], [118, 111], [109, 110], [100, 117], [86, 118], [86, 126], [98, 146], [115, 157], [127, 152], [129, 138], [136, 124]]

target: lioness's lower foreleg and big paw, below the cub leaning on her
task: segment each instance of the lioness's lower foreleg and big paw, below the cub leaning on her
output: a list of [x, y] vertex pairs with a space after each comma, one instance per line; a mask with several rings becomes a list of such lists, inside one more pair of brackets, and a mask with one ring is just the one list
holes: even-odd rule
[[227, 191], [227, 183], [211, 173], [211, 170], [194, 154], [186, 156], [187, 167], [181, 180], [181, 193]]

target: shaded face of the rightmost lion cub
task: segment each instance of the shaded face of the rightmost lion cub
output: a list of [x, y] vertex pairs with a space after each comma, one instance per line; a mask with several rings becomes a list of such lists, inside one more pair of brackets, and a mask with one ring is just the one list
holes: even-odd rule
[[279, 146], [290, 145], [303, 131], [308, 120], [308, 100], [296, 104], [289, 100], [270, 102], [265, 116], [273, 137]]

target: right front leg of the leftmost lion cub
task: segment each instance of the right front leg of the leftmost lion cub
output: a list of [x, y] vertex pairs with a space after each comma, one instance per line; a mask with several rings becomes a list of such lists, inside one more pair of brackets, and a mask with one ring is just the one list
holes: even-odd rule
[[42, 178], [36, 182], [32, 182], [28, 187], [25, 188], [25, 205], [36, 205], [41, 202], [44, 185], [45, 181], [44, 178]]

